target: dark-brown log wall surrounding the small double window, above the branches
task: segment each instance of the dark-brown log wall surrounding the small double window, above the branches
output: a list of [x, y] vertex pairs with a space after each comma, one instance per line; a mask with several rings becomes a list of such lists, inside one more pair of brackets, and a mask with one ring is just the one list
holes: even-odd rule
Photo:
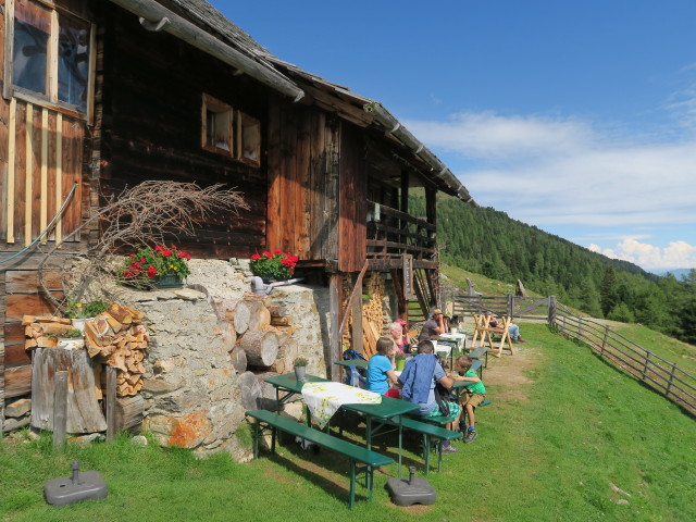
[[145, 30], [135, 15], [103, 2], [104, 89], [101, 176], [117, 190], [144, 179], [222, 183], [250, 206], [201, 222], [196, 238], [177, 244], [200, 256], [249, 257], [265, 249], [266, 159], [252, 166], [201, 146], [202, 95], [261, 122], [275, 96], [246, 75], [164, 33]]

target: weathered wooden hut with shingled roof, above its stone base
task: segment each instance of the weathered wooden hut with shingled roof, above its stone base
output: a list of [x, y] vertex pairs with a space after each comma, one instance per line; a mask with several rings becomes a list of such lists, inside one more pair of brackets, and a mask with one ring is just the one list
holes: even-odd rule
[[[179, 244], [207, 258], [298, 256], [331, 287], [335, 357], [349, 311], [362, 318], [349, 296], [365, 274], [388, 274], [400, 316], [410, 298], [423, 313], [435, 302], [435, 195], [471, 197], [378, 102], [273, 57], [206, 1], [0, 4], [0, 408], [30, 390], [22, 315], [53, 311], [33, 246], [84, 251], [98, 231], [65, 238], [100, 190], [145, 179], [237, 187], [249, 210]], [[414, 187], [422, 216], [409, 211]], [[357, 345], [361, 328], [353, 320]]]

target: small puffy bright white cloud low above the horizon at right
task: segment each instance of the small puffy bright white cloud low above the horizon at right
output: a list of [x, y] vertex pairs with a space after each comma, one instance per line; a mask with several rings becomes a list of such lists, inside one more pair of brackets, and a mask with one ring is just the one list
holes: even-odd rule
[[696, 266], [696, 246], [685, 241], [672, 241], [664, 248], [626, 238], [614, 248], [602, 249], [598, 245], [587, 247], [613, 259], [631, 261], [644, 269], [687, 269]]

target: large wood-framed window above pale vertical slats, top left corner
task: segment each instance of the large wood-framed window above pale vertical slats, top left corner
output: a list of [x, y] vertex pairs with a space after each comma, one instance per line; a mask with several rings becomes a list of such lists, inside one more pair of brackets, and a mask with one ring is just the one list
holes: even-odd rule
[[41, 0], [9, 0], [5, 96], [48, 102], [86, 114], [92, 26]]

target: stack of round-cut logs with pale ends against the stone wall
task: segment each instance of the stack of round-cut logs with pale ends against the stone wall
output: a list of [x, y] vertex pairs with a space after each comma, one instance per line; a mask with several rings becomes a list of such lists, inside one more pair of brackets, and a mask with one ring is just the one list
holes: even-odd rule
[[259, 408], [259, 401], [269, 395], [264, 380], [293, 371], [298, 347], [291, 336], [298, 326], [283, 306], [265, 297], [248, 295], [215, 301], [214, 307], [223, 341], [240, 374], [243, 403]]

